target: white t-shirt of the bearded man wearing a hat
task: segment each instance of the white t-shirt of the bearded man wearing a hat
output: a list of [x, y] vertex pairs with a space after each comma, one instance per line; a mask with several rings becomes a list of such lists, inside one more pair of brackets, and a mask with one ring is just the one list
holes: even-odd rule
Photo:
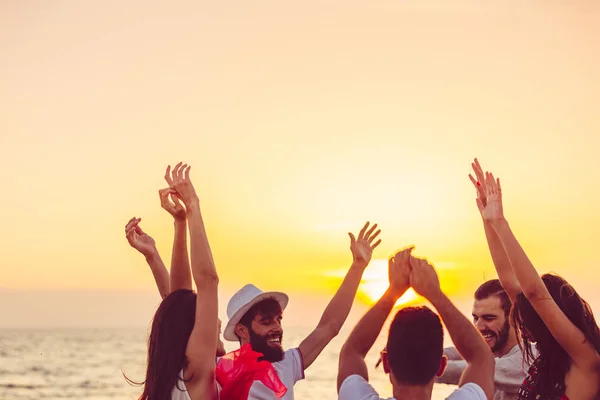
[[[300, 349], [287, 350], [283, 353], [283, 360], [273, 363], [273, 368], [275, 368], [279, 379], [287, 388], [287, 392], [279, 400], [294, 400], [294, 384], [304, 379], [304, 361]], [[277, 400], [277, 397], [262, 382], [255, 381], [250, 387], [248, 400]]]

